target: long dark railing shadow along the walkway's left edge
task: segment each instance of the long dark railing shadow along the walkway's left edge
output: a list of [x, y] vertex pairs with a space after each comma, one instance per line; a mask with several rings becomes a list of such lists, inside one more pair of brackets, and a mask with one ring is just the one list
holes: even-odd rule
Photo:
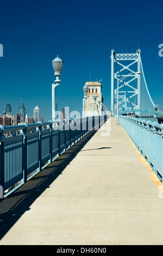
[[[84, 145], [95, 135], [93, 130], [74, 144], [58, 159], [49, 164], [39, 174], [30, 179], [7, 198], [0, 202], [0, 240], [16, 221], [30, 210], [30, 205], [40, 196], [52, 182], [64, 171], [66, 166], [76, 157]], [[46, 205], [46, 201], [45, 201]]]

